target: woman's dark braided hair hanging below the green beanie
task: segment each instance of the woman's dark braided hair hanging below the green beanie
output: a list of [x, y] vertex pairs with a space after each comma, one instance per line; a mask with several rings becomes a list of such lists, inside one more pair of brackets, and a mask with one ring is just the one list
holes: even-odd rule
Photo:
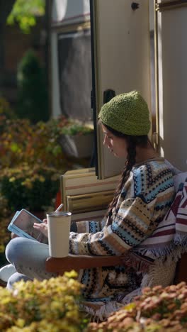
[[111, 201], [111, 204], [108, 205], [107, 216], [110, 217], [112, 215], [113, 208], [117, 204], [118, 198], [120, 196], [120, 192], [121, 192], [125, 182], [128, 180], [130, 171], [132, 170], [132, 167], [135, 165], [136, 147], [138, 145], [141, 147], [146, 147], [147, 143], [148, 143], [148, 136], [147, 135], [140, 135], [140, 136], [125, 135], [123, 133], [115, 131], [113, 128], [111, 128], [109, 126], [106, 126], [105, 123], [103, 123], [103, 125], [108, 129], [108, 131], [111, 131], [111, 133], [113, 133], [113, 135], [115, 135], [119, 138], [125, 138], [125, 140], [128, 143], [128, 156], [127, 156], [127, 160], [125, 162], [125, 167], [124, 167], [122, 175], [120, 177], [118, 187], [115, 189], [115, 194], [114, 194], [113, 200]]

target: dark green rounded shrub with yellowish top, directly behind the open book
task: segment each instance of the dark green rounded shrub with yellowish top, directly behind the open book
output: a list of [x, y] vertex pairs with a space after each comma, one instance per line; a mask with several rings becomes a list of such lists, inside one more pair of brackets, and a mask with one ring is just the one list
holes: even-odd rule
[[45, 165], [6, 167], [0, 174], [1, 194], [10, 211], [45, 211], [60, 189], [60, 174]]

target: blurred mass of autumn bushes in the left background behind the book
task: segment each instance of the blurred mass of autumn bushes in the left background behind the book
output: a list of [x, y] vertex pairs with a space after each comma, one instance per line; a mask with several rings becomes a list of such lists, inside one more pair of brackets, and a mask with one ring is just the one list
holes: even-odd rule
[[[26, 208], [46, 211], [60, 189], [60, 175], [72, 168], [59, 144], [65, 127], [76, 121], [64, 116], [30, 123], [16, 118], [0, 97], [0, 253], [9, 239], [11, 214]], [[79, 123], [79, 133], [84, 125]], [[9, 219], [9, 220], [8, 220]]]

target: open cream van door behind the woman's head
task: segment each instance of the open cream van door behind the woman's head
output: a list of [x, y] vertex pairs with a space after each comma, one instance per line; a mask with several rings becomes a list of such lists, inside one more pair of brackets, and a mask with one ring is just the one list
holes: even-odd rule
[[103, 147], [96, 125], [107, 89], [115, 94], [139, 90], [150, 109], [149, 1], [91, 0], [96, 172], [99, 179], [119, 174], [124, 160]]

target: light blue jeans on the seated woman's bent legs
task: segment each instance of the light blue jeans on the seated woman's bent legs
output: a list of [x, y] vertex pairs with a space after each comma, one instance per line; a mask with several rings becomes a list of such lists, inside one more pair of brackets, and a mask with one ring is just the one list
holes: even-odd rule
[[28, 238], [13, 238], [6, 246], [6, 259], [16, 273], [8, 279], [7, 288], [11, 289], [19, 280], [44, 280], [56, 277], [56, 273], [45, 270], [45, 260], [49, 257], [49, 246]]

